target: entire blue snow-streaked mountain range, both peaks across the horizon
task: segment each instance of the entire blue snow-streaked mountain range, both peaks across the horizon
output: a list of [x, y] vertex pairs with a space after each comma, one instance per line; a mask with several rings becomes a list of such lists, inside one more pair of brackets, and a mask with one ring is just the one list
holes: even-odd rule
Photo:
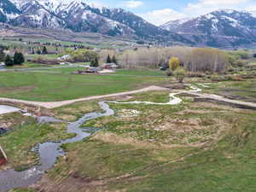
[[81, 0], [0, 0], [0, 22], [26, 28], [95, 32], [164, 45], [236, 47], [256, 43], [256, 18], [236, 10], [218, 10], [154, 26], [125, 9], [97, 7]]

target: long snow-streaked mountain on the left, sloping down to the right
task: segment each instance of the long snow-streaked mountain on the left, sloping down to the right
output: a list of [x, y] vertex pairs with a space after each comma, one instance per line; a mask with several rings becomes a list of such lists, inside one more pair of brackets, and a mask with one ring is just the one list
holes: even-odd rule
[[[66, 28], [73, 32], [193, 44], [183, 36], [154, 26], [124, 9], [108, 9], [84, 0], [0, 0], [0, 3], [0, 19], [13, 26]], [[1, 16], [5, 7], [13, 12], [5, 11]]]

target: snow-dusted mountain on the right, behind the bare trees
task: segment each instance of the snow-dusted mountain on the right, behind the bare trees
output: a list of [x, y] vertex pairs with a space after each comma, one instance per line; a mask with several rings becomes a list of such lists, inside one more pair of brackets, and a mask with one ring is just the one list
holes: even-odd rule
[[256, 17], [223, 9], [191, 20], [171, 21], [162, 28], [182, 34], [196, 44], [236, 47], [256, 42]]

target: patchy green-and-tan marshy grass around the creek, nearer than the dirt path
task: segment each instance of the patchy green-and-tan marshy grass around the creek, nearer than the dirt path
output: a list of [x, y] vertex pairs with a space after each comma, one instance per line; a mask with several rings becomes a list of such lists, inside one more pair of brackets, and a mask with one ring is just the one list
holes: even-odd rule
[[[221, 91], [222, 86], [219, 84], [218, 90]], [[216, 85], [207, 89], [214, 90]], [[249, 97], [252, 90], [253, 87], [247, 87], [243, 94]], [[169, 92], [145, 92], [122, 99], [168, 102]], [[84, 113], [99, 110], [97, 102], [79, 102], [48, 113], [72, 121]], [[235, 192], [256, 189], [253, 182], [256, 179], [253, 172], [255, 111], [195, 102], [190, 96], [183, 96], [183, 103], [176, 106], [110, 103], [110, 107], [115, 115], [83, 125], [102, 131], [83, 142], [65, 145], [67, 155], [61, 157], [40, 182], [32, 189], [13, 191]], [[36, 155], [29, 150], [34, 144], [70, 137], [65, 134], [65, 123], [35, 127], [37, 125], [22, 125], [0, 137], [14, 160], [8, 166], [36, 163]], [[20, 145], [6, 142], [18, 140], [18, 136]], [[31, 136], [31, 142], [22, 146]], [[14, 147], [20, 150], [12, 153], [8, 149]]]

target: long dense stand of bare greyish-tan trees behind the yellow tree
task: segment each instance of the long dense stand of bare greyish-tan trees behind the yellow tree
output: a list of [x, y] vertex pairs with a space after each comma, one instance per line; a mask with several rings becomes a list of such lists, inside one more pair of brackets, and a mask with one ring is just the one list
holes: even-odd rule
[[172, 57], [190, 72], [223, 72], [229, 66], [229, 55], [213, 48], [141, 48], [128, 49], [118, 55], [119, 64], [129, 68], [168, 67]]

